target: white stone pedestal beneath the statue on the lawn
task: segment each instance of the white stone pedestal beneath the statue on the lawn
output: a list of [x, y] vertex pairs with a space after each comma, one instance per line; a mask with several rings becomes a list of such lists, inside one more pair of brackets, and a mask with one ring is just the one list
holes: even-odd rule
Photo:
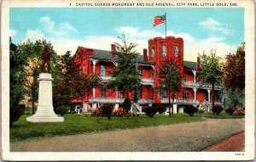
[[39, 75], [38, 110], [35, 115], [26, 118], [30, 122], [62, 122], [63, 117], [55, 115], [52, 104], [52, 80], [51, 74]]

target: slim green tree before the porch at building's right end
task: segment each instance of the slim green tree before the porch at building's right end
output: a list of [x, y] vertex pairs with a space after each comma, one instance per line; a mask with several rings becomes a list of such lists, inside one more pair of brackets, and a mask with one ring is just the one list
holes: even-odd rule
[[210, 83], [212, 85], [212, 108], [214, 107], [214, 86], [215, 84], [221, 83], [223, 75], [223, 63], [221, 58], [216, 56], [216, 51], [213, 53], [211, 51], [210, 55], [205, 53], [200, 54], [201, 57], [201, 70], [199, 72], [199, 77], [201, 81], [205, 83]]

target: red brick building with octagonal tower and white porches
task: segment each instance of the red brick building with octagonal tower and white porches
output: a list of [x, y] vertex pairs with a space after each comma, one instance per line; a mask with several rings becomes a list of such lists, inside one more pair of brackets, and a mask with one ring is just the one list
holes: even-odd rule
[[[92, 49], [78, 47], [74, 54], [74, 60], [79, 64], [79, 70], [84, 75], [96, 74], [100, 75], [102, 82], [111, 79], [111, 71], [115, 70], [113, 58], [115, 57], [115, 46], [111, 45], [111, 51], [100, 49]], [[211, 109], [212, 102], [212, 86], [210, 84], [202, 84], [196, 80], [196, 73], [200, 70], [200, 59], [196, 62], [183, 60], [183, 38], [167, 36], [166, 38], [155, 37], [148, 41], [148, 49], [143, 49], [143, 55], [139, 55], [137, 59], [137, 68], [141, 71], [142, 91], [137, 105], [141, 111], [143, 105], [151, 105], [152, 103], [168, 103], [166, 92], [159, 90], [158, 71], [164, 61], [171, 60], [180, 70], [183, 76], [182, 86], [179, 92], [175, 92], [172, 98], [174, 101], [174, 113], [183, 111], [177, 109], [179, 104], [195, 104], [202, 108]], [[222, 98], [223, 87], [215, 87], [214, 93], [217, 104], [223, 104]], [[131, 98], [132, 92], [129, 92]], [[78, 101], [81, 104], [83, 112], [96, 109], [102, 103], [112, 103], [115, 109], [119, 104], [123, 103], [125, 98], [124, 92], [113, 91], [104, 86], [95, 87], [92, 94], [84, 96], [84, 99]]]

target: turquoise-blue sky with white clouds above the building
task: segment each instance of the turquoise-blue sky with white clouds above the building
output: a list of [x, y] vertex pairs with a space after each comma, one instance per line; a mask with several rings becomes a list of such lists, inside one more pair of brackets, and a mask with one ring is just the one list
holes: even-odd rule
[[59, 54], [78, 46], [110, 50], [117, 36], [137, 42], [165, 36], [165, 25], [153, 27], [154, 16], [167, 14], [167, 35], [184, 40], [184, 59], [214, 48], [218, 55], [235, 53], [244, 41], [243, 8], [10, 8], [13, 42], [47, 39]]

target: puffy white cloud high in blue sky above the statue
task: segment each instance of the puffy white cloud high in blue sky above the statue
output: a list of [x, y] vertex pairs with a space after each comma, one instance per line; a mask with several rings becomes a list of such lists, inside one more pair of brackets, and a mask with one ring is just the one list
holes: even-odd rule
[[44, 30], [53, 36], [66, 36], [69, 32], [77, 31], [67, 21], [62, 22], [60, 25], [55, 25], [55, 22], [50, 20], [48, 16], [41, 17], [39, 22], [44, 25]]

